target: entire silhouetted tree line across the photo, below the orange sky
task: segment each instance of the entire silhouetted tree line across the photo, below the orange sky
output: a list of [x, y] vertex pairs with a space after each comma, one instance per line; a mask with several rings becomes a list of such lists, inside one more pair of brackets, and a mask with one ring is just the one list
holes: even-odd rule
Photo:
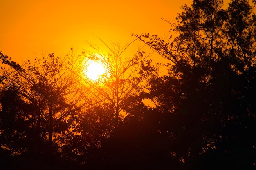
[[[173, 36], [134, 35], [168, 59], [166, 75], [143, 51], [121, 60], [128, 46], [115, 44], [22, 66], [1, 53], [0, 167], [256, 169], [256, 16], [248, 0], [222, 6], [193, 0]], [[84, 57], [112, 75], [81, 81]]]

